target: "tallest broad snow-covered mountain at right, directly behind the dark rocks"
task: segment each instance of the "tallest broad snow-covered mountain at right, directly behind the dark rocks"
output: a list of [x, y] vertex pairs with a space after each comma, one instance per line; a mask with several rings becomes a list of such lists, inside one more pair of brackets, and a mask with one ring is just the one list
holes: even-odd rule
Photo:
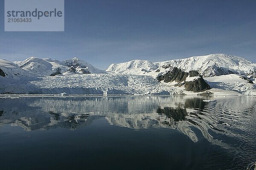
[[198, 71], [203, 77], [220, 76], [225, 74], [256, 74], [256, 64], [244, 59], [227, 54], [209, 54], [185, 59], [174, 59], [164, 62], [154, 62], [157, 67], [169, 64], [181, 68], [183, 71]]

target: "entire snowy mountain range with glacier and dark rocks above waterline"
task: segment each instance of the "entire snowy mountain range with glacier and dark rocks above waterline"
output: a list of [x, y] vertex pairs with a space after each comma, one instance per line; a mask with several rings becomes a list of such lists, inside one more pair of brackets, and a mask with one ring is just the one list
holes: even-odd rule
[[135, 59], [105, 71], [77, 57], [0, 59], [2, 94], [256, 95], [255, 78], [255, 63], [227, 54], [163, 62]]

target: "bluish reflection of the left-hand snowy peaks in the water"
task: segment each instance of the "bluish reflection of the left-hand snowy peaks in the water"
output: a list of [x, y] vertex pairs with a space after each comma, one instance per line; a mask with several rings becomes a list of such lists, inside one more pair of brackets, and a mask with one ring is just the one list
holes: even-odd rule
[[[39, 105], [29, 106], [37, 102], [37, 99], [29, 98], [5, 99], [0, 105], [0, 125], [11, 124], [12, 126], [20, 126], [26, 131], [47, 130], [57, 127], [75, 130], [90, 124], [94, 119], [102, 117], [72, 112], [44, 111]], [[51, 108], [45, 105], [44, 107]]]

